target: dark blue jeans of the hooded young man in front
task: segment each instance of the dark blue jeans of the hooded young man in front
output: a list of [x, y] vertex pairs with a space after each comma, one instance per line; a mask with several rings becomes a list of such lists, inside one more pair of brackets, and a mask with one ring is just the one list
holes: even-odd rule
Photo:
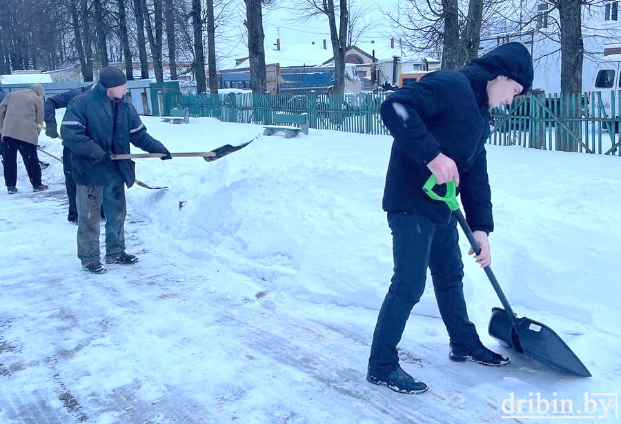
[[464, 264], [455, 217], [438, 224], [413, 213], [389, 212], [388, 225], [393, 233], [394, 274], [377, 317], [368, 360], [369, 370], [380, 375], [399, 366], [397, 344], [410, 311], [423, 294], [427, 267], [451, 342], [478, 341], [476, 328], [466, 312]]

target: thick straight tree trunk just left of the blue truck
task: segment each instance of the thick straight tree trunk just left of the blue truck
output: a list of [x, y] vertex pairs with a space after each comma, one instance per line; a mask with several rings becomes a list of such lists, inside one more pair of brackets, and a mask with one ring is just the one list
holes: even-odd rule
[[248, 28], [248, 56], [250, 57], [250, 83], [254, 94], [267, 91], [265, 70], [265, 34], [263, 32], [263, 10], [261, 0], [246, 2], [246, 28]]

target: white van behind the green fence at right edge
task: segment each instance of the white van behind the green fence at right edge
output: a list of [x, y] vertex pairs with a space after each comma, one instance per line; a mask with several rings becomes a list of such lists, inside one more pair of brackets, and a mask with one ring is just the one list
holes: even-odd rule
[[[620, 117], [621, 104], [618, 92], [621, 90], [621, 54], [604, 56], [598, 63], [592, 92], [595, 94], [595, 104], [589, 105], [589, 112], [596, 117]], [[615, 110], [612, 110], [611, 94], [615, 92]], [[589, 96], [589, 101], [591, 96]]]

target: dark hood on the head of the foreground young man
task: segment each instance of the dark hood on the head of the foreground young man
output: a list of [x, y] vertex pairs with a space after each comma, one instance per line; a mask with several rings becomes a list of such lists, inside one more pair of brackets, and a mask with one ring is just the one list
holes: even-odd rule
[[533, 85], [533, 59], [523, 44], [511, 42], [498, 46], [473, 61], [489, 70], [495, 77], [503, 75], [517, 81], [524, 87], [520, 94], [526, 94]]

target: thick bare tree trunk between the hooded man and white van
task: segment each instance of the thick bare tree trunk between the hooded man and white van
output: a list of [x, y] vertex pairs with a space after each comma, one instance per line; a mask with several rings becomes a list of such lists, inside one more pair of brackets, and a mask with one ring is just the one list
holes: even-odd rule
[[[582, 19], [580, 17], [580, 0], [558, 1], [561, 34], [561, 114], [571, 131], [559, 130], [557, 150], [578, 152], [582, 140], [580, 119], [582, 105], [582, 61], [584, 44], [582, 43]], [[560, 136], [560, 137], [559, 137]]]

